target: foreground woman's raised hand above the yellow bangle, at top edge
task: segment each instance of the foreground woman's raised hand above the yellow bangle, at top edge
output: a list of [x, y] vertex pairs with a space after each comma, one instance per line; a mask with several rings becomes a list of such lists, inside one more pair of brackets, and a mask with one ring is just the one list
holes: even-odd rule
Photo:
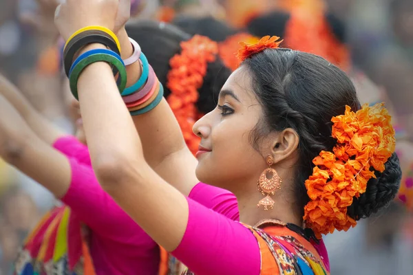
[[90, 25], [100, 25], [116, 32], [115, 25], [120, 2], [123, 1], [65, 0], [56, 8], [54, 22], [65, 41], [77, 30]]

